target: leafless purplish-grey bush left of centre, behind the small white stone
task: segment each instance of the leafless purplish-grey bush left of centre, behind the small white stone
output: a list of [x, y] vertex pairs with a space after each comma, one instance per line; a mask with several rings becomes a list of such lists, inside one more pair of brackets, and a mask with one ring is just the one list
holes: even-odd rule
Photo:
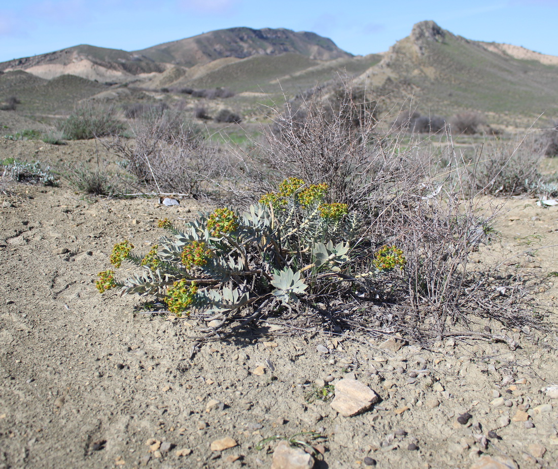
[[114, 138], [103, 144], [126, 158], [127, 170], [150, 190], [204, 194], [205, 182], [221, 175], [222, 154], [195, 128], [171, 117], [143, 119], [132, 127], [133, 141]]

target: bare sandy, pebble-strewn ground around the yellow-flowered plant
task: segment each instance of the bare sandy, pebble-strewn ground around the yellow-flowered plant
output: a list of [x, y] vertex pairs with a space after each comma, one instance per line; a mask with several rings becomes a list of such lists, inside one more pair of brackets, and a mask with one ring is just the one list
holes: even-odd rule
[[[93, 154], [91, 142], [0, 141], [0, 159]], [[2, 469], [271, 467], [277, 441], [258, 442], [300, 432], [322, 436], [311, 442], [321, 468], [558, 467], [558, 389], [547, 390], [558, 385], [556, 333], [502, 331], [512, 350], [262, 324], [193, 354], [193, 320], [141, 314], [139, 298], [101, 295], [94, 282], [114, 243], [148, 247], [157, 219], [180, 223], [199, 202], [89, 201], [6, 177], [0, 189]], [[494, 228], [475, 262], [540, 278], [538, 311], [556, 324], [558, 207], [512, 199]], [[343, 417], [309, 397], [342, 378], [381, 401]], [[212, 451], [227, 437], [235, 446]]]

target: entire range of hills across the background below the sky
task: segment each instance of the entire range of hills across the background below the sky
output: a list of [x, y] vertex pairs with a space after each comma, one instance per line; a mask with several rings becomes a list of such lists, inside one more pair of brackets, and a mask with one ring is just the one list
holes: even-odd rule
[[[161, 100], [181, 109], [230, 107], [257, 119], [256, 101], [280, 102], [318, 83], [333, 92], [337, 85], [328, 84], [345, 75], [381, 99], [384, 112], [408, 100], [421, 114], [472, 110], [504, 126], [558, 115], [558, 57], [470, 40], [434, 21], [417, 23], [388, 52], [367, 56], [283, 28], [229, 28], [132, 52], [74, 46], [0, 64], [0, 101], [17, 97], [17, 112], [27, 117], [67, 114], [95, 96], [124, 108]], [[237, 96], [199, 103], [208, 94], [187, 91], [213, 88]]]

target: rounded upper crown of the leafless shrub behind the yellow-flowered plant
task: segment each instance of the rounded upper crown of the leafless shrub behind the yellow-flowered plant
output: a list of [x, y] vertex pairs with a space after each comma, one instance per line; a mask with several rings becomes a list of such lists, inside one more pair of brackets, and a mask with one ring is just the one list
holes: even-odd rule
[[242, 156], [238, 180], [255, 191], [290, 176], [326, 182], [332, 200], [353, 209], [366, 206], [369, 195], [380, 186], [388, 190], [404, 165], [374, 132], [376, 103], [356, 96], [350, 89], [317, 93], [275, 110], [265, 141]]

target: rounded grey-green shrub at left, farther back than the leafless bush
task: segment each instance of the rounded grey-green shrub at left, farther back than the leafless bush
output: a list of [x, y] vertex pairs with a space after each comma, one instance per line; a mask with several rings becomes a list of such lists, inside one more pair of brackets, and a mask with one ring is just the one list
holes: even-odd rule
[[124, 124], [117, 118], [116, 108], [92, 101], [76, 107], [58, 127], [66, 140], [87, 140], [124, 132]]

